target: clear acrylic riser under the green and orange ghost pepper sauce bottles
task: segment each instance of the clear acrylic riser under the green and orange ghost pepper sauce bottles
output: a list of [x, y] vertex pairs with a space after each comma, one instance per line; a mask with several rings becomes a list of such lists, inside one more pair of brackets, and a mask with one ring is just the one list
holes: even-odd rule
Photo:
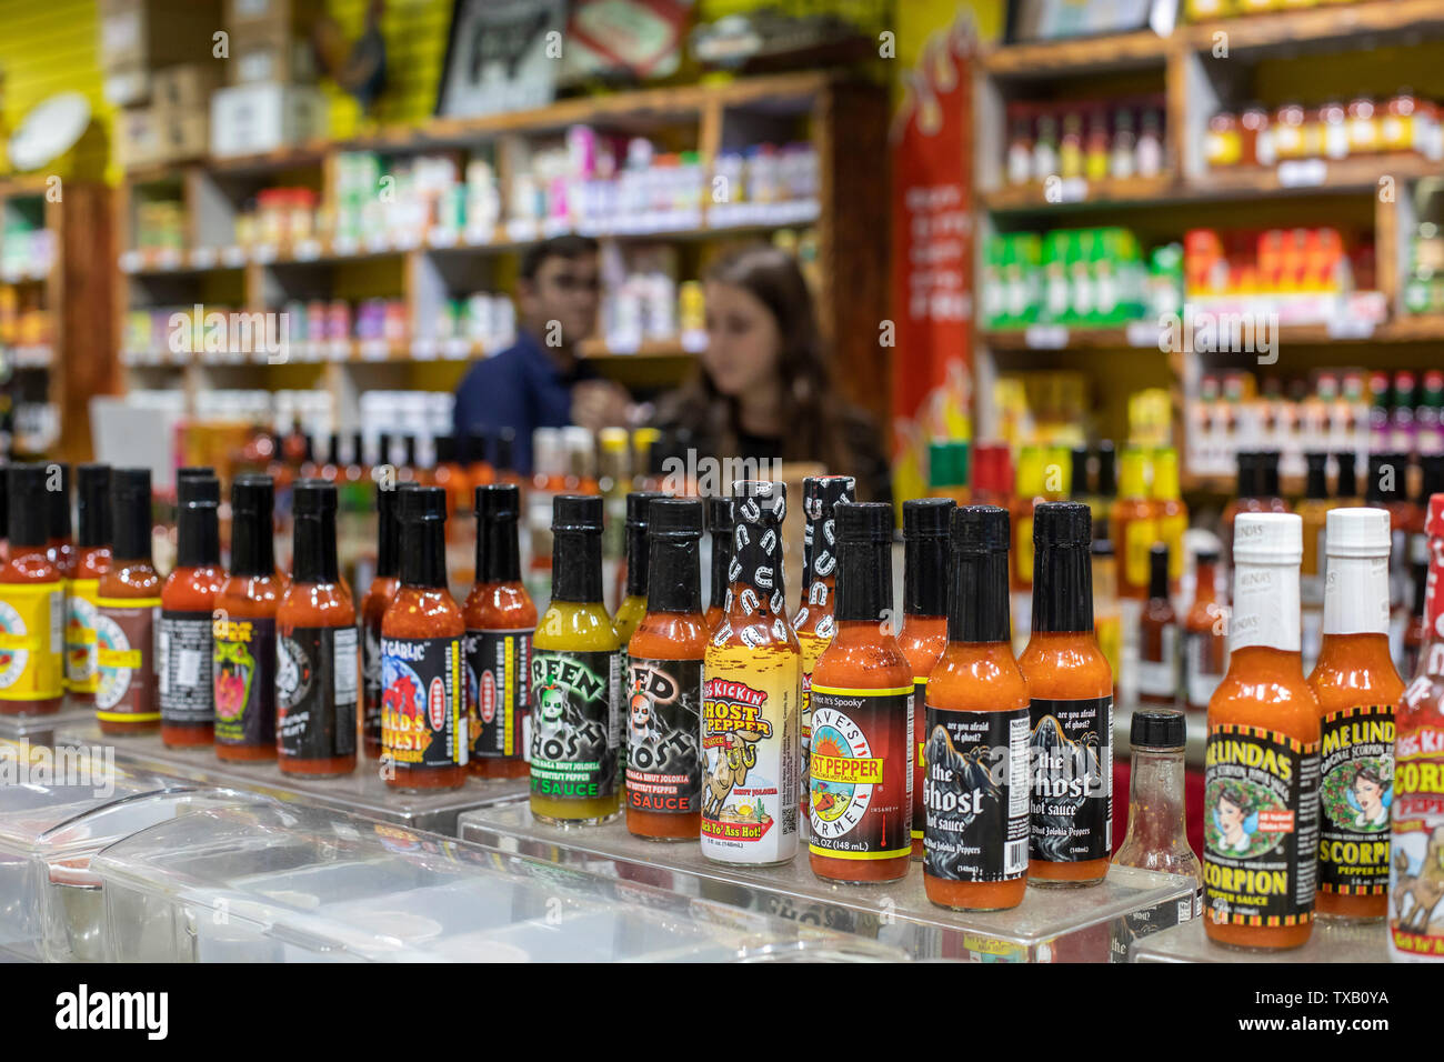
[[1106, 962], [1125, 926], [1171, 925], [1191, 909], [1196, 883], [1129, 867], [1110, 868], [1089, 889], [1028, 887], [1014, 910], [963, 913], [937, 907], [914, 863], [901, 881], [845, 886], [817, 878], [806, 847], [783, 867], [748, 870], [703, 858], [696, 842], [643, 841], [618, 821], [602, 826], [537, 822], [526, 800], [461, 816], [464, 841], [585, 868], [741, 910], [796, 919], [901, 948], [918, 959], [980, 962]]

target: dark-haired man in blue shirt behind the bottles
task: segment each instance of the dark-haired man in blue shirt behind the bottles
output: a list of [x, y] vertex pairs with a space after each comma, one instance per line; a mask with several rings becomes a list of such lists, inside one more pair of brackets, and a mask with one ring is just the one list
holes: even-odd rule
[[517, 471], [531, 472], [531, 432], [578, 423], [596, 431], [627, 422], [630, 397], [596, 377], [576, 345], [596, 329], [599, 302], [596, 241], [559, 236], [521, 256], [517, 280], [517, 341], [474, 364], [456, 389], [456, 438], [517, 433]]

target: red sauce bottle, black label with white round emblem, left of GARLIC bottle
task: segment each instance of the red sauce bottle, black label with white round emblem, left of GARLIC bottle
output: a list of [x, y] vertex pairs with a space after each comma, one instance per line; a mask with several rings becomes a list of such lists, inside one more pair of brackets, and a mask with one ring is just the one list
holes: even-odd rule
[[336, 562], [335, 484], [300, 480], [292, 511], [292, 579], [276, 610], [276, 759], [284, 774], [349, 774], [361, 649]]

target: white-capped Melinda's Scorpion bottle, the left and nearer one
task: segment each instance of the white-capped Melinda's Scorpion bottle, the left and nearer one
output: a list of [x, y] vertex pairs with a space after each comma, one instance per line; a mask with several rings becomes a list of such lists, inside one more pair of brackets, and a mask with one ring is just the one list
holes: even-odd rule
[[1302, 522], [1233, 524], [1229, 672], [1209, 701], [1203, 887], [1210, 941], [1297, 948], [1314, 920], [1318, 699], [1300, 663]]

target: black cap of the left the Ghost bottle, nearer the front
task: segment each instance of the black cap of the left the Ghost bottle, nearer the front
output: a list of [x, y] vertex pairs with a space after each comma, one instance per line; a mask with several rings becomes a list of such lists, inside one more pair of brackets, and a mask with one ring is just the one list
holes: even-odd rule
[[1008, 545], [1012, 530], [1008, 510], [996, 506], [962, 506], [952, 519], [952, 597], [947, 610], [949, 642], [1006, 642], [1011, 629], [1008, 600]]

